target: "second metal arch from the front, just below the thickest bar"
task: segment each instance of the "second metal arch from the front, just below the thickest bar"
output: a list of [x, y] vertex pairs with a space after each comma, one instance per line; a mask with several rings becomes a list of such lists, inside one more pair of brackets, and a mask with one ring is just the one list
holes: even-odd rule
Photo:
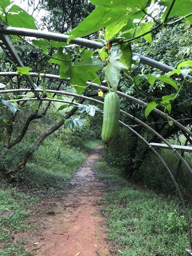
[[[57, 80], [63, 80], [63, 81], [70, 81], [70, 79], [68, 79], [68, 78], [67, 78], [67, 79], [60, 79], [59, 76], [57, 76], [57, 75], [52, 75], [52, 74], [30, 73], [30, 75], [31, 75], [32, 77], [38, 77], [38, 76], [41, 75], [42, 77], [45, 76], [45, 78], [47, 78], [47, 79], [57, 79]], [[19, 74], [16, 73], [16, 72], [0, 72], [0, 76], [19, 76]], [[90, 86], [92, 86], [92, 87], [95, 87], [95, 88], [98, 88], [98, 89], [102, 89], [102, 90], [108, 91], [108, 87], [105, 87], [105, 86], [102, 86], [102, 85], [99, 85], [99, 84], [95, 84], [95, 83], [87, 82], [87, 85], [89, 85], [89, 84], [90, 84]], [[112, 90], [112, 89], [111, 89], [111, 90]], [[142, 106], [146, 106], [146, 105], [147, 105], [147, 103], [141, 101], [140, 99], [134, 98], [134, 97], [132, 97], [132, 96], [130, 96], [130, 95], [128, 95], [128, 94], [122, 93], [122, 92], [120, 92], [120, 91], [117, 91], [117, 94], [118, 94], [119, 96], [122, 96], [122, 97], [125, 98], [125, 99], [131, 100], [132, 102], [136, 102], [136, 103], [138, 103], [138, 104], [140, 104], [140, 105], [142, 105]], [[174, 124], [175, 124], [181, 131], [184, 131], [186, 134], [188, 134], [189, 136], [192, 137], [192, 132], [189, 131], [189, 130], [188, 130], [186, 127], [184, 127], [183, 125], [181, 125], [179, 122], [177, 122], [175, 119], [173, 119], [171, 116], [166, 116], [165, 113], [163, 113], [162, 111], [160, 111], [160, 110], [157, 109], [157, 108], [154, 108], [152, 111], [155, 112], [155, 113], [157, 113], [157, 114], [160, 115], [160, 116], [163, 116], [163, 118], [166, 118], [166, 119], [169, 119], [169, 120], [173, 121]]]

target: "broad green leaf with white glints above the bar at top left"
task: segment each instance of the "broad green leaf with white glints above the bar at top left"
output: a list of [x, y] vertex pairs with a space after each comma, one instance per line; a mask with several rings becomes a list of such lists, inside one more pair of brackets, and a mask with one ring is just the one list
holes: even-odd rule
[[[37, 26], [35, 25], [35, 18], [15, 4], [9, 9], [8, 12], [6, 12], [6, 16], [9, 26], [37, 29]], [[3, 16], [3, 20], [6, 21], [5, 16]]]

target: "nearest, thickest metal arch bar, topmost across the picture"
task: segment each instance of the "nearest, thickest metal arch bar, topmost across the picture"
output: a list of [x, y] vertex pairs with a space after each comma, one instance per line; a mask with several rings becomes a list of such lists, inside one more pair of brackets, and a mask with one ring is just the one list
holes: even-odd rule
[[[5, 35], [23, 35], [23, 36], [29, 36], [29, 37], [36, 37], [36, 38], [44, 38], [44, 39], [51, 39], [61, 42], [67, 42], [67, 39], [69, 38], [69, 35], [63, 35], [58, 34], [54, 32], [48, 32], [48, 31], [39, 31], [35, 29], [25, 29], [25, 28], [17, 28], [17, 27], [6, 27], [6, 28], [0, 28], [0, 34]], [[96, 41], [91, 41], [84, 38], [76, 38], [71, 41], [72, 44], [78, 44], [81, 46], [90, 47], [93, 49], [101, 49], [105, 45]], [[147, 58], [143, 55], [137, 54], [133, 52], [133, 55], [140, 56], [140, 62], [143, 64], [147, 64], [151, 67], [155, 67], [159, 70], [162, 70], [164, 72], [169, 72], [172, 70], [175, 70], [173, 67], [169, 67], [168, 65], [165, 65], [163, 63], [160, 63], [158, 61], [155, 61], [151, 58]], [[175, 74], [175, 76], [178, 76]], [[180, 76], [179, 76], [180, 77]], [[181, 77], [182, 78], [182, 77]], [[187, 76], [187, 79], [192, 79], [192, 76]]]

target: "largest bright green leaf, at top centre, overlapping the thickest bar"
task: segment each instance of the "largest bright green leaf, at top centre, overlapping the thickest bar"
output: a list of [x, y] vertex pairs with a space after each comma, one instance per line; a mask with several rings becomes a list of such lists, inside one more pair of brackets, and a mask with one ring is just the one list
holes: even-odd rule
[[[122, 22], [128, 21], [129, 15], [145, 9], [148, 0], [93, 0], [91, 2], [98, 6], [73, 30], [68, 41], [89, 35], [108, 25], [118, 31], [123, 25]], [[107, 36], [111, 37], [112, 34], [114, 35], [114, 32], [111, 31]]]

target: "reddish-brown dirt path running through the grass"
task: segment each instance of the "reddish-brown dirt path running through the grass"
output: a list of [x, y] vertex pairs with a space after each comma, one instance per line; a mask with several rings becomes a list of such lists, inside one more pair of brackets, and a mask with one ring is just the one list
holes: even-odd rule
[[[106, 192], [105, 184], [93, 175], [94, 163], [100, 147], [87, 157], [86, 162], [71, 180], [67, 194], [50, 202], [53, 215], [43, 216], [38, 230], [29, 240], [38, 241], [37, 256], [108, 256], [106, 227], [96, 202]], [[50, 213], [51, 213], [50, 212]], [[40, 216], [37, 217], [37, 220]], [[34, 222], [38, 222], [38, 221]], [[79, 253], [79, 254], [78, 254]]]

